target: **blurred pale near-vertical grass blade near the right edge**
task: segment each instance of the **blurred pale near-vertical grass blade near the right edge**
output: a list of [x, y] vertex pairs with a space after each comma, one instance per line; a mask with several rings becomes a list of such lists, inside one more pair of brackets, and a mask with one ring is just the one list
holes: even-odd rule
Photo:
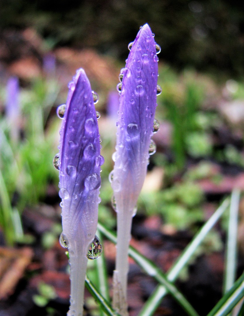
[[237, 227], [240, 195], [240, 190], [235, 189], [230, 199], [224, 293], [233, 286], [236, 276]]

